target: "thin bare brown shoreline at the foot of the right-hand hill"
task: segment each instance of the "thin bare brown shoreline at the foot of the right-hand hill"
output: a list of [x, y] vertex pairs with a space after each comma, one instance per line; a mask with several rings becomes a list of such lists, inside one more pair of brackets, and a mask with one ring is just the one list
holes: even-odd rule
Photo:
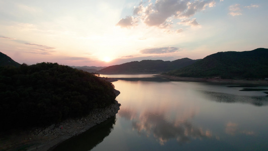
[[168, 79], [170, 81], [181, 82], [204, 82], [204, 83], [217, 83], [217, 84], [252, 84], [252, 85], [268, 85], [265, 80], [233, 80], [233, 79], [219, 79], [219, 78], [192, 78], [192, 77], [175, 77], [171, 75], [154, 75], [158, 78]]

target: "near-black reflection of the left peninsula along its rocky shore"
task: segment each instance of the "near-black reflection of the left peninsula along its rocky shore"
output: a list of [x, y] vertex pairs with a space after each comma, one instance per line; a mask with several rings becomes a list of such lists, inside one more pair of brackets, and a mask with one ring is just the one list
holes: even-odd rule
[[114, 128], [116, 117], [102, 122], [101, 124], [92, 127], [86, 132], [74, 136], [56, 146], [53, 151], [57, 150], [91, 150], [99, 143], [101, 143], [106, 136], [108, 136]]

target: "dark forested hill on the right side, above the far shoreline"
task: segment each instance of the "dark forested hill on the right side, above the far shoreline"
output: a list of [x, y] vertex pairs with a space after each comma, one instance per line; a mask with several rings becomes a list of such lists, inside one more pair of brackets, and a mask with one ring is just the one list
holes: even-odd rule
[[268, 78], [268, 49], [228, 51], [211, 54], [194, 64], [168, 72], [178, 77], [221, 77], [223, 79]]

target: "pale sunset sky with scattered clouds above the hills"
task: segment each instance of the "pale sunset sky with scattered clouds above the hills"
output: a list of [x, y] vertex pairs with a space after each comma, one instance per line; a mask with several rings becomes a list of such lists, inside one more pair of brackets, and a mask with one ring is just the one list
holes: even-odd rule
[[0, 52], [110, 66], [268, 48], [267, 0], [0, 0]]

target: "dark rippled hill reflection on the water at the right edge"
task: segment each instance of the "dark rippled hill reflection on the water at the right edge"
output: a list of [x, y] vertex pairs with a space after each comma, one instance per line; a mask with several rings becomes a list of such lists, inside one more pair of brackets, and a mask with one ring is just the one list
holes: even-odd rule
[[201, 91], [206, 96], [216, 102], [225, 102], [225, 103], [247, 103], [254, 106], [266, 106], [268, 105], [267, 96], [239, 96], [234, 94], [225, 94], [212, 91]]

